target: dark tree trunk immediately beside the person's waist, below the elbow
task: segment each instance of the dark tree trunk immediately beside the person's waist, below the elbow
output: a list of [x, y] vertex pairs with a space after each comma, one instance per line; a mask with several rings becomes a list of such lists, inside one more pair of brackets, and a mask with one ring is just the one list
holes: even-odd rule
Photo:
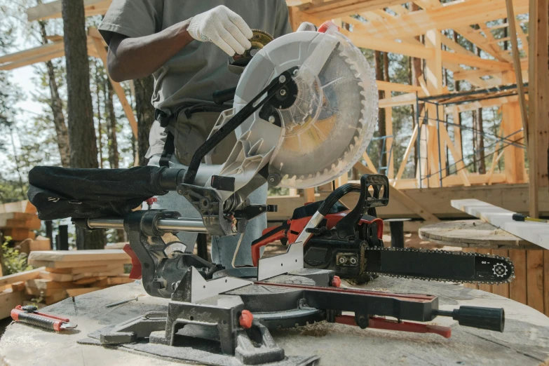
[[154, 123], [154, 107], [151, 104], [154, 92], [154, 77], [152, 75], [133, 81], [135, 86], [135, 110], [137, 111], [137, 149], [139, 164], [147, 165], [145, 154], [149, 149], [149, 132]]

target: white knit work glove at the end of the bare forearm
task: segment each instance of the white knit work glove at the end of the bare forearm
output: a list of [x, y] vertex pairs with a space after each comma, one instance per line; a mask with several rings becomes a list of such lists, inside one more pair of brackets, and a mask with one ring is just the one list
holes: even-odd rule
[[192, 18], [187, 32], [197, 41], [215, 43], [229, 56], [249, 50], [254, 36], [240, 15], [222, 5]]

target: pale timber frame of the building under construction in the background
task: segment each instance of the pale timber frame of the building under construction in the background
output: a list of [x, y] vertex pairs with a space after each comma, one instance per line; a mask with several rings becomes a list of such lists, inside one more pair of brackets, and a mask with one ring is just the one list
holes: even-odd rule
[[[84, 2], [86, 15], [98, 15], [107, 11], [111, 0], [85, 0]], [[479, 107], [499, 107], [503, 116], [501, 123], [503, 135], [513, 134], [513, 139], [521, 143], [529, 137], [527, 151], [529, 161], [534, 163], [530, 163], [527, 169], [524, 150], [516, 144], [509, 144], [500, 156], [494, 154], [493, 166], [501, 159], [505, 163], [503, 172], [494, 172], [494, 169], [491, 169], [483, 175], [470, 174], [464, 169], [463, 163], [459, 163], [463, 158], [461, 149], [457, 147], [461, 140], [459, 130], [454, 130], [452, 139], [445, 125], [429, 118], [425, 123], [416, 126], [407, 145], [403, 163], [395, 166], [393, 158], [389, 162], [388, 177], [392, 184], [392, 207], [380, 210], [381, 215], [386, 217], [405, 215], [427, 222], [435, 222], [441, 217], [456, 215], [452, 208], [440, 212], [439, 208], [433, 207], [436, 200], [415, 198], [418, 194], [414, 192], [420, 191], [419, 196], [421, 196], [419, 187], [426, 187], [422, 184], [423, 177], [417, 175], [414, 179], [402, 178], [407, 164], [411, 163], [409, 156], [419, 136], [421, 136], [419, 149], [425, 153], [419, 161], [423, 171], [433, 172], [438, 170], [439, 166], [447, 167], [451, 161], [458, 162], [456, 165], [459, 169], [456, 174], [444, 173], [442, 188], [437, 189], [440, 195], [439, 201], [443, 196], [449, 202], [452, 194], [455, 194], [455, 189], [458, 189], [467, 192], [469, 198], [480, 198], [501, 205], [501, 197], [485, 196], [494, 191], [508, 192], [508, 194], [517, 194], [522, 199], [522, 203], [515, 205], [513, 210], [530, 211], [532, 216], [538, 215], [538, 211], [541, 210], [543, 214], [549, 215], [547, 204], [549, 200], [546, 194], [549, 191], [547, 161], [549, 145], [547, 109], [549, 107], [546, 102], [543, 102], [543, 98], [549, 94], [547, 1], [454, 0], [441, 3], [440, 0], [416, 0], [413, 2], [419, 6], [418, 11], [410, 11], [409, 2], [402, 0], [287, 0], [294, 29], [304, 21], [320, 25], [325, 20], [334, 20], [339, 24], [350, 25], [348, 27], [350, 30], [344, 29], [342, 32], [356, 46], [425, 60], [425, 79], [419, 80], [419, 86], [378, 82], [378, 88], [388, 93], [388, 97], [380, 100], [380, 107], [386, 110], [388, 116], [388, 135], [391, 135], [393, 130], [391, 116], [394, 107], [416, 104], [418, 97], [436, 97], [448, 93], [447, 88], [443, 86], [443, 70], [447, 69], [453, 72], [455, 80], [466, 80], [473, 88], [517, 84], [517, 95], [490, 97], [448, 107], [426, 104], [426, 111], [431, 116], [440, 114], [443, 119], [445, 116], [453, 116], [455, 120], [459, 113], [464, 111]], [[60, 1], [42, 4], [29, 9], [27, 13], [29, 21], [60, 18]], [[534, 18], [536, 21], [529, 22], [524, 14], [529, 14], [528, 19]], [[515, 15], [522, 16], [519, 19]], [[512, 21], [503, 21], [504, 18]], [[500, 21], [494, 22], [496, 20]], [[529, 25], [528, 32], [524, 32], [522, 28], [525, 23]], [[496, 39], [492, 32], [504, 27], [510, 29], [509, 36], [506, 39]], [[474, 43], [484, 52], [483, 57], [471, 53], [450, 39], [444, 32], [449, 29], [453, 29]], [[417, 41], [415, 36], [422, 36], [424, 41]], [[512, 50], [503, 49], [504, 41], [511, 41]], [[100, 57], [105, 62], [105, 46], [97, 30], [90, 29], [88, 37], [90, 55]], [[33, 50], [0, 57], [0, 69], [14, 69], [61, 57], [63, 54], [62, 41], [55, 41]], [[531, 75], [535, 77], [529, 77]], [[520, 80], [522, 78], [524, 82], [531, 81], [528, 98], [524, 97], [524, 88]], [[133, 132], [137, 133], [137, 123], [130, 104], [121, 86], [114, 82], [113, 85], [118, 97], [121, 98]], [[529, 116], [526, 114], [527, 110]], [[447, 151], [449, 151], [448, 154]], [[359, 172], [376, 172], [376, 167], [367, 154], [363, 156], [361, 163], [355, 165], [355, 169]], [[347, 177], [341, 177], [334, 184], [337, 186], [346, 181]], [[438, 187], [438, 184], [433, 181], [433, 184], [428, 186]], [[527, 197], [524, 197], [524, 194]], [[538, 196], [540, 194], [541, 196]], [[271, 201], [283, 202], [281, 206], [287, 205], [288, 208], [294, 208], [301, 203], [314, 201], [323, 196], [325, 192], [320, 189], [317, 191], [309, 189], [301, 193], [290, 190], [290, 196], [273, 197]], [[539, 203], [545, 204], [539, 205]], [[280, 210], [280, 212], [285, 211], [287, 210]], [[272, 215], [271, 219], [282, 218], [278, 216]]]

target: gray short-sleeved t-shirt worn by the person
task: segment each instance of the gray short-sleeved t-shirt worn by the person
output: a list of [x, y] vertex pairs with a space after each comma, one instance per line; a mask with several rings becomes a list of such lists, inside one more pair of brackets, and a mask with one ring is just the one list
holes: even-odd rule
[[[219, 5], [275, 38], [292, 32], [285, 0], [113, 0], [99, 29], [108, 44], [113, 32], [148, 36]], [[228, 59], [213, 43], [191, 42], [154, 73], [154, 107], [172, 114], [182, 103], [211, 102], [216, 90], [236, 86]]]

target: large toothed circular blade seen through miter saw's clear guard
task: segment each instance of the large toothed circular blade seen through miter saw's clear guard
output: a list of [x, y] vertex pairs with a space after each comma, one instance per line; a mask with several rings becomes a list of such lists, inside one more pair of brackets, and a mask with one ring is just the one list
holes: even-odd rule
[[279, 110], [283, 133], [269, 172], [280, 175], [281, 187], [318, 187], [336, 179], [361, 158], [374, 134], [379, 100], [372, 69], [345, 36], [332, 36], [337, 46], [320, 72], [304, 62], [294, 78], [296, 101]]

